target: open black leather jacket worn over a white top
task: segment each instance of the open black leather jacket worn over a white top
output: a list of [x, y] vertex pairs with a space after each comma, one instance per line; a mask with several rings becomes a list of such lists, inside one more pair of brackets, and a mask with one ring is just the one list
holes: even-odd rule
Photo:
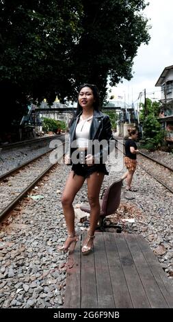
[[[75, 140], [75, 130], [81, 113], [72, 120], [72, 123], [70, 126], [70, 157], [71, 157], [72, 151], [74, 151], [74, 149], [72, 148], [72, 142]], [[95, 160], [99, 159], [100, 162], [102, 162], [104, 159], [103, 158], [104, 152], [107, 153], [107, 149], [108, 149], [108, 153], [110, 152], [109, 140], [114, 140], [114, 137], [111, 132], [111, 122], [108, 115], [103, 114], [100, 111], [94, 110], [94, 116], [90, 126], [89, 140], [91, 140], [90, 141], [91, 144], [88, 147], [88, 154], [92, 154]], [[101, 140], [107, 140], [108, 147], [103, 147], [103, 148], [101, 147], [99, 153], [94, 153], [93, 146], [92, 146], [92, 143], [94, 144], [94, 140], [98, 140], [99, 142], [101, 142]], [[114, 145], [115, 145], [115, 140], [114, 140]]]

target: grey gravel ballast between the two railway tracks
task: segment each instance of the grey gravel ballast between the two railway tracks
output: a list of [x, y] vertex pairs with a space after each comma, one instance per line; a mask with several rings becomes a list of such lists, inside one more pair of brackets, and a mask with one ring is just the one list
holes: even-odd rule
[[[66, 287], [68, 254], [57, 250], [66, 239], [66, 224], [60, 202], [70, 166], [59, 164], [12, 211], [0, 232], [0, 307], [61, 308]], [[103, 188], [122, 173], [105, 176]], [[120, 207], [107, 223], [120, 223], [127, 233], [142, 234], [158, 257], [172, 283], [173, 219], [172, 193], [137, 167], [133, 177], [136, 193], [122, 187]], [[87, 201], [86, 184], [74, 204]], [[31, 196], [42, 196], [31, 199]], [[134, 219], [134, 223], [122, 221]], [[77, 229], [83, 227], [77, 224]]]

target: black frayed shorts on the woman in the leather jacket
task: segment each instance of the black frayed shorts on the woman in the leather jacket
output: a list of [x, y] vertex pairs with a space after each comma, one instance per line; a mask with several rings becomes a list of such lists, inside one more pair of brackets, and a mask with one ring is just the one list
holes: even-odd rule
[[75, 175], [81, 175], [82, 177], [90, 177], [92, 173], [104, 173], [104, 175], [109, 175], [109, 172], [106, 169], [105, 164], [93, 164], [92, 166], [88, 166], [87, 164], [72, 164], [72, 171], [74, 171]]

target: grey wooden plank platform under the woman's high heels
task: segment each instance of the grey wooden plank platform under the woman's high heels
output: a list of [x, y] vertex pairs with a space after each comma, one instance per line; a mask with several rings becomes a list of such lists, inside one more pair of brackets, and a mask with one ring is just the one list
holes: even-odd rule
[[142, 236], [96, 232], [88, 256], [81, 242], [68, 256], [64, 308], [173, 308], [172, 284]]

